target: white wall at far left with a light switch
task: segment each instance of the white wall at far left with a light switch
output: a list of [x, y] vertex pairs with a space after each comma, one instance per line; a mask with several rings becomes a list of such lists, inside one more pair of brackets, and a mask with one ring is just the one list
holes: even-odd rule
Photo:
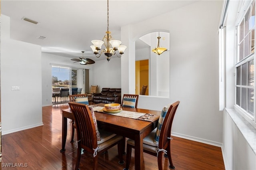
[[41, 47], [11, 40], [10, 18], [4, 15], [0, 61], [2, 134], [43, 125]]

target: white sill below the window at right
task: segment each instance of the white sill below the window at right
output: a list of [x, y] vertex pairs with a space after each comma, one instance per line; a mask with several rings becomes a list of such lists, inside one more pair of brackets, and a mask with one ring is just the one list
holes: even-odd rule
[[248, 123], [235, 109], [226, 108], [226, 112], [230, 115], [231, 119], [256, 154], [256, 128]]

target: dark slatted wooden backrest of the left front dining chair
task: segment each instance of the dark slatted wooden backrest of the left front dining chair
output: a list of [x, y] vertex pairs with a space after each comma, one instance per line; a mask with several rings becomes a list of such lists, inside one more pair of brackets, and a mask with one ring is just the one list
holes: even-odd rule
[[82, 147], [94, 153], [93, 148], [97, 148], [96, 128], [92, 119], [92, 114], [87, 105], [69, 102], [70, 109], [74, 115], [76, 123], [77, 140], [81, 140]]

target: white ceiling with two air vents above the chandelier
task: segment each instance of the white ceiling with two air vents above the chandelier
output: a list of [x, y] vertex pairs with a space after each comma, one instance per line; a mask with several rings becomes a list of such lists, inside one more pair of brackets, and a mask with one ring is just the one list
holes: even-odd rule
[[[122, 26], [192, 4], [194, 0], [110, 0], [109, 31], [120, 40]], [[107, 0], [1, 0], [1, 13], [10, 17], [10, 38], [42, 46], [42, 52], [70, 58], [96, 58], [91, 40], [107, 30]], [[23, 17], [35, 20], [32, 24]], [[154, 24], [154, 23], [152, 23]], [[44, 36], [46, 39], [37, 39]], [[125, 45], [125, 44], [124, 44]], [[139, 46], [139, 43], [136, 43]]]

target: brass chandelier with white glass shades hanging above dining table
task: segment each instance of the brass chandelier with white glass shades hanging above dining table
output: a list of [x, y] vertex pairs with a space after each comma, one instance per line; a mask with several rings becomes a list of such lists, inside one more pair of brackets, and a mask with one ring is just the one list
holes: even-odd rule
[[[108, 14], [108, 13], [107, 13]], [[107, 20], [108, 23], [108, 20]], [[109, 25], [108, 25], [109, 26]], [[93, 53], [95, 54], [96, 57], [100, 57], [102, 53], [104, 53], [107, 56], [107, 60], [110, 60], [110, 57], [112, 55], [116, 55], [117, 57], [121, 57], [122, 54], [124, 53], [124, 50], [126, 49], [125, 45], [120, 45], [122, 42], [119, 40], [114, 40], [112, 36], [110, 36], [110, 31], [108, 31], [104, 36], [104, 38], [101, 40], [92, 40], [93, 45], [90, 47], [92, 48]], [[100, 51], [102, 44], [105, 45], [105, 49], [102, 49]], [[120, 56], [116, 53], [116, 51], [119, 51]]]

